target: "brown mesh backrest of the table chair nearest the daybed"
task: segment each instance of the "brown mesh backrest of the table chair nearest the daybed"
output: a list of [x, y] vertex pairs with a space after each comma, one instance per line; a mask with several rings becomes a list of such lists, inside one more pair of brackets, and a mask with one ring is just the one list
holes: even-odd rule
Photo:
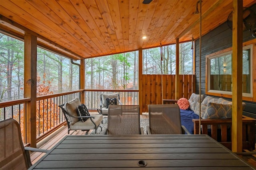
[[148, 116], [151, 134], [182, 134], [177, 104], [148, 105]]

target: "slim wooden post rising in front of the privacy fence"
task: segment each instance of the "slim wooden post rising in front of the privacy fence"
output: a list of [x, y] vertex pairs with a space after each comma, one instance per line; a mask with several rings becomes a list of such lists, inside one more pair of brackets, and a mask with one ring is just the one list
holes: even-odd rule
[[180, 43], [179, 38], [176, 38], [176, 75], [175, 75], [175, 99], [180, 98], [179, 89], [179, 75], [180, 75]]

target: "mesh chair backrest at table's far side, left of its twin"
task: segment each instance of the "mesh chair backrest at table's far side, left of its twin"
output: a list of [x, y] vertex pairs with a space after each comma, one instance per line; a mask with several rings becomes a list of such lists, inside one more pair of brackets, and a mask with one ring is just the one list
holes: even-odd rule
[[138, 105], [110, 105], [108, 134], [140, 134], [140, 107]]

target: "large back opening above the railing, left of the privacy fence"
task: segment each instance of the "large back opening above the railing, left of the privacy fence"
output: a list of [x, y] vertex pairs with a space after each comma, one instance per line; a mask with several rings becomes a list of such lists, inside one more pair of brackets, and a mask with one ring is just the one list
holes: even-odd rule
[[138, 89], [138, 51], [85, 60], [86, 89]]

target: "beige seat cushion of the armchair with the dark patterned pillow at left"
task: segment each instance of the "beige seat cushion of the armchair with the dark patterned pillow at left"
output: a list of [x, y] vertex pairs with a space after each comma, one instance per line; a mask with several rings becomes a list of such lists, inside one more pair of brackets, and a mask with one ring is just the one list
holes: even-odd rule
[[[95, 115], [91, 115], [94, 118], [92, 118], [92, 120], [95, 122], [96, 126], [98, 126], [102, 120], [103, 120], [103, 116], [101, 114], [95, 114]], [[90, 129], [95, 129], [95, 125], [93, 124], [93, 122], [91, 121], [91, 119], [87, 119], [85, 122], [82, 121], [78, 121], [73, 125], [70, 125], [70, 130], [75, 129], [75, 130], [90, 130]]]

